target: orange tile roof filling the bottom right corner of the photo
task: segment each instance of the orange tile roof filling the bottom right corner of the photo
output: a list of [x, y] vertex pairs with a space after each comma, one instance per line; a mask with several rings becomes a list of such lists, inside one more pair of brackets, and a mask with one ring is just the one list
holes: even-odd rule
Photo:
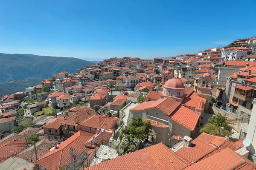
[[[221, 160], [221, 161], [220, 161]], [[186, 167], [184, 170], [252, 170], [256, 169], [256, 164], [246, 159], [245, 157], [235, 153], [230, 148], [221, 150], [213, 156], [210, 156], [207, 159], [198, 161], [195, 164], [192, 164], [189, 167]]]

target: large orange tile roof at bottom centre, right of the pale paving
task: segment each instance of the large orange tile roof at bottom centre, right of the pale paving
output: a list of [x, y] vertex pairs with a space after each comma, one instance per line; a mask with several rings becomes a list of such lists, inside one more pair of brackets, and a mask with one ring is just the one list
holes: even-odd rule
[[[167, 161], [168, 160], [168, 161]], [[163, 143], [87, 167], [85, 170], [177, 170], [188, 164]]]

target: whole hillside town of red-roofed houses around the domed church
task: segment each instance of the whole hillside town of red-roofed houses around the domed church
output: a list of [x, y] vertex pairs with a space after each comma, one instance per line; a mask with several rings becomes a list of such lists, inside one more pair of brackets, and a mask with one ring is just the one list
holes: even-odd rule
[[256, 169], [255, 97], [256, 37], [63, 70], [1, 96], [0, 167]]

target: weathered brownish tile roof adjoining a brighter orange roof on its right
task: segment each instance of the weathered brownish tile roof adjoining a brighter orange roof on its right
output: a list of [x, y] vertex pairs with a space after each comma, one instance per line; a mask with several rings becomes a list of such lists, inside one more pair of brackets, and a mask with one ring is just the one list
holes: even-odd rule
[[[96, 114], [96, 112], [92, 108], [84, 106], [84, 108], [65, 119], [61, 124], [73, 126], [81, 125], [82, 122], [89, 119], [94, 114]], [[75, 119], [77, 119], [77, 123], [75, 123]]]

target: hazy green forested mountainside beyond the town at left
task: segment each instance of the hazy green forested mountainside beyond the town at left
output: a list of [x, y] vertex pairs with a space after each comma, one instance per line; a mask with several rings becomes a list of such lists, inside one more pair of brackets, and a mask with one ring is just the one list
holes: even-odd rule
[[[0, 53], [0, 82], [51, 78], [61, 71], [75, 73], [77, 68], [93, 64], [73, 57], [50, 57], [33, 54]], [[1, 90], [0, 90], [1, 91]]]

